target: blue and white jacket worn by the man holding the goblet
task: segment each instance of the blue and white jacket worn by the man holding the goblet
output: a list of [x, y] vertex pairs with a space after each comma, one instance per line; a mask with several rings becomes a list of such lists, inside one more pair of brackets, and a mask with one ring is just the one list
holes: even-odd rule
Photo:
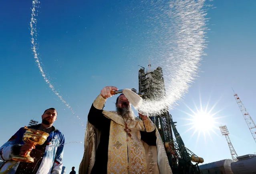
[[[29, 128], [36, 129], [39, 127], [38, 125], [30, 126]], [[17, 146], [24, 144], [22, 137], [25, 132], [24, 128], [20, 128], [8, 142], [0, 147], [0, 160], [4, 161], [4, 164], [0, 167], [0, 173], [15, 174], [20, 162], [11, 160], [11, 158], [19, 153], [17, 152]], [[54, 128], [46, 142], [47, 145], [42, 156], [42, 162], [36, 174], [60, 174], [65, 144], [64, 135]]]

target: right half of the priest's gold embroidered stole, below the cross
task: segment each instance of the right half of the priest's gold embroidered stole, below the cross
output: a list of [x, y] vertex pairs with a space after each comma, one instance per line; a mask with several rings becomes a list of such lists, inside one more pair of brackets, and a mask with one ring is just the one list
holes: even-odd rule
[[141, 134], [138, 130], [131, 131], [133, 140], [129, 140], [129, 168], [131, 174], [147, 174], [147, 160], [145, 149], [141, 142]]

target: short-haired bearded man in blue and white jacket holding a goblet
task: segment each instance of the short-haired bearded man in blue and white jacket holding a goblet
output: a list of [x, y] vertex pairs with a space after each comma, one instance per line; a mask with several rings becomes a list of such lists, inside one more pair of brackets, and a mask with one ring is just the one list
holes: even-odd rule
[[[4, 164], [0, 167], [0, 173], [5, 174], [60, 174], [62, 171], [64, 135], [54, 128], [52, 124], [57, 119], [57, 111], [49, 108], [42, 114], [42, 123], [28, 128], [41, 130], [50, 134], [42, 145], [33, 146], [24, 143], [24, 128], [20, 128], [2, 147], [0, 147], [0, 160]], [[19, 162], [11, 158], [16, 155], [24, 155], [29, 150], [34, 158], [33, 163]]]

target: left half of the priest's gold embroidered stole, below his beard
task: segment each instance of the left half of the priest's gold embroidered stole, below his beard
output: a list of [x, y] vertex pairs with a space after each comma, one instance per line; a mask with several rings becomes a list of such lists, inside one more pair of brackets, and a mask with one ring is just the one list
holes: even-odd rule
[[[126, 132], [123, 130], [124, 126], [111, 121], [109, 132], [109, 152], [107, 163], [107, 174], [127, 174], [128, 154]], [[111, 148], [119, 142], [123, 146], [119, 148]], [[118, 143], [118, 144], [119, 144]], [[117, 145], [116, 145], [117, 146]]]

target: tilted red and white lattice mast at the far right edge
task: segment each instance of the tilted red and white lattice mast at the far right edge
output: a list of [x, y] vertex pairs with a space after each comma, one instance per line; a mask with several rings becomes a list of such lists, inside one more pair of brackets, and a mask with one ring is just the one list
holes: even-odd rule
[[[233, 88], [232, 88], [233, 90]], [[234, 92], [234, 90], [233, 90]], [[250, 116], [250, 114], [246, 111], [246, 108], [244, 107], [244, 104], [242, 103], [242, 101], [240, 100], [240, 98], [238, 97], [238, 95], [234, 92], [234, 97], [236, 99], [236, 102], [244, 116], [244, 120], [247, 123], [247, 126], [249, 128], [249, 130], [251, 131], [252, 137], [254, 139], [254, 141], [256, 142], [256, 125], [254, 123], [254, 121], [252, 120], [252, 117]]]

